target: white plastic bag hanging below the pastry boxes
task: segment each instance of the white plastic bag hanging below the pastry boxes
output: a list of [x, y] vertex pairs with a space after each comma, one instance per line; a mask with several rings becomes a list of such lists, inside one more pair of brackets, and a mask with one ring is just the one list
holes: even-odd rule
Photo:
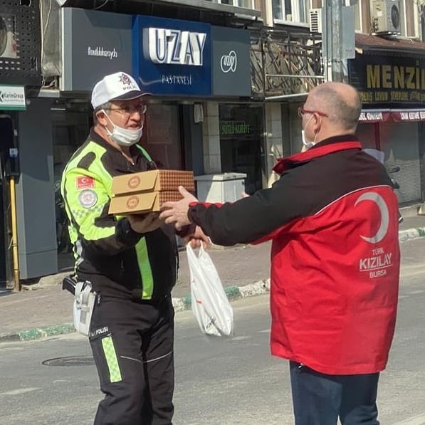
[[201, 332], [207, 335], [231, 335], [234, 312], [221, 284], [211, 257], [201, 246], [196, 256], [190, 244], [186, 246], [190, 271], [191, 310]]

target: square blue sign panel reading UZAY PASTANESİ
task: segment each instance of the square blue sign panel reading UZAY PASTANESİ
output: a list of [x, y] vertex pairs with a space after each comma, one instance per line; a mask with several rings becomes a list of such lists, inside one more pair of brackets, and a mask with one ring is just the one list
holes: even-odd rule
[[211, 95], [209, 23], [137, 16], [133, 73], [157, 95]]

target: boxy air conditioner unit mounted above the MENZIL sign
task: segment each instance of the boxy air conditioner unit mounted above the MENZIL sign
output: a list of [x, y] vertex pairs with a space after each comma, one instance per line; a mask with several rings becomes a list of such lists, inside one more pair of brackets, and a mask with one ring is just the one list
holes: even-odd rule
[[372, 32], [399, 33], [400, 32], [400, 4], [399, 0], [372, 1]]

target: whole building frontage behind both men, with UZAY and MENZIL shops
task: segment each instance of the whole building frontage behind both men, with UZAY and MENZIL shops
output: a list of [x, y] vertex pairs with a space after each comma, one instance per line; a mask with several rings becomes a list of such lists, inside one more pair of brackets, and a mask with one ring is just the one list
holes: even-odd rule
[[[409, 204], [424, 200], [425, 14], [420, 2], [390, 1], [397, 33], [384, 31], [394, 22], [378, 18], [377, 1], [345, 1], [356, 33], [346, 78], [362, 95], [359, 136], [400, 167], [399, 201]], [[0, 0], [0, 91], [9, 93], [7, 102], [0, 95], [0, 285], [16, 268], [26, 280], [72, 266], [58, 189], [93, 122], [90, 90], [106, 73], [132, 73], [154, 95], [142, 144], [159, 167], [241, 173], [249, 194], [273, 184], [279, 157], [299, 152], [298, 106], [325, 80], [320, 0], [96, 3]]]

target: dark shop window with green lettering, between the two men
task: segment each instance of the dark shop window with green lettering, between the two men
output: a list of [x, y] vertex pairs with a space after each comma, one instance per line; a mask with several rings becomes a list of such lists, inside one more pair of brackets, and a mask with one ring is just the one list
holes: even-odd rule
[[253, 194], [263, 187], [263, 107], [220, 105], [221, 171], [247, 175], [246, 192]]

